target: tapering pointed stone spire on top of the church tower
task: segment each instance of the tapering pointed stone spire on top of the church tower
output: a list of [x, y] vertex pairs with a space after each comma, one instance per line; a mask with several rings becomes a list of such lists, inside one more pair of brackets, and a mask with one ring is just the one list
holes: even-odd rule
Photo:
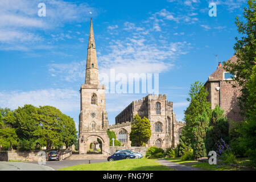
[[96, 55], [96, 47], [93, 34], [92, 18], [90, 19], [90, 33], [87, 48], [87, 60], [85, 71], [85, 85], [100, 85], [100, 79], [98, 77], [98, 63]]

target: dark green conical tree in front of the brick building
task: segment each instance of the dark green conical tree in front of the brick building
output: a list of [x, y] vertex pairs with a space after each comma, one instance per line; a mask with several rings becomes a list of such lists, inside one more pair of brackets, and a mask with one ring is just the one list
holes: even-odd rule
[[216, 105], [212, 111], [212, 118], [210, 119], [205, 139], [207, 154], [209, 151], [216, 151], [216, 143], [221, 138], [226, 142], [229, 141], [229, 122], [224, 115], [224, 110], [221, 110], [220, 106]]

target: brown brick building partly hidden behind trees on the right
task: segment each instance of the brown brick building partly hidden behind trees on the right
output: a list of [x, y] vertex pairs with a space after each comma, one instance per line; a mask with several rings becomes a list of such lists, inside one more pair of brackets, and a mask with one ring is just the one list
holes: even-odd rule
[[[232, 56], [230, 61], [237, 61], [237, 57], [235, 55]], [[241, 92], [239, 87], [232, 87], [233, 82], [232, 75], [226, 72], [221, 62], [219, 62], [216, 71], [208, 77], [204, 86], [209, 92], [208, 101], [212, 109], [218, 105], [221, 109], [224, 109], [224, 114], [229, 120], [242, 121], [243, 118], [239, 114], [240, 107], [237, 100]]]

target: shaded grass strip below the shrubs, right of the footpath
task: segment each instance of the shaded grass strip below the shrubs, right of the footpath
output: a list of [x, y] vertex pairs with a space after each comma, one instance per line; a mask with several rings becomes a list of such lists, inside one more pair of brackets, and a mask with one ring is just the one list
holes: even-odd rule
[[174, 163], [183, 164], [185, 166], [192, 166], [197, 167], [200, 169], [205, 169], [209, 171], [243, 171], [243, 170], [250, 170], [249, 168], [246, 168], [246, 164], [244, 162], [245, 159], [238, 159], [236, 166], [218, 166], [218, 165], [210, 165], [207, 162], [198, 162], [197, 160], [187, 160], [182, 161], [180, 158], [166, 158], [166, 160], [170, 160]]

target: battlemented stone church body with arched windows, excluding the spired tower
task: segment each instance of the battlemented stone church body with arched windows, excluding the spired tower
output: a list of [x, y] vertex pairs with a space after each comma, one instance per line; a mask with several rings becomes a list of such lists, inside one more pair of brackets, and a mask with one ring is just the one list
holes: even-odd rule
[[165, 94], [163, 96], [149, 94], [143, 97], [143, 100], [133, 101], [115, 117], [115, 125], [109, 126], [109, 129], [115, 132], [117, 139], [125, 146], [131, 144], [129, 133], [135, 114], [150, 121], [152, 135], [147, 146], [162, 148], [177, 146], [184, 123], [176, 121], [173, 103], [167, 101]]

